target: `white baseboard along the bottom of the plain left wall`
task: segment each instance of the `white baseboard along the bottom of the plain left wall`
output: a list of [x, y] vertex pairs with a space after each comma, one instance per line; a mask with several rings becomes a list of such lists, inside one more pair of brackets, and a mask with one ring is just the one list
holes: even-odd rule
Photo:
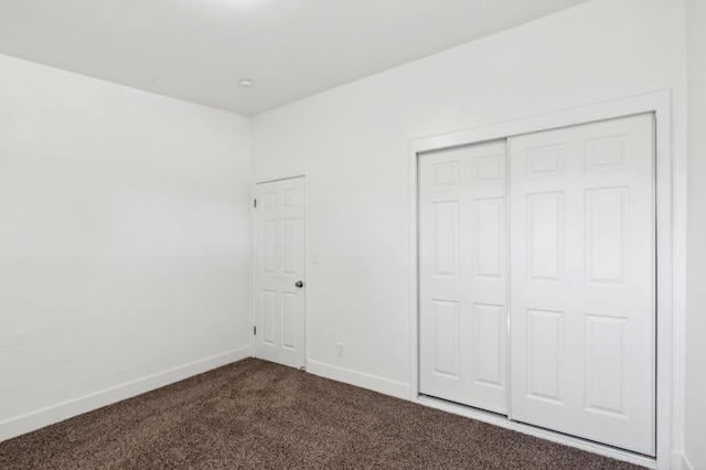
[[184, 378], [249, 356], [250, 348], [240, 348], [0, 421], [0, 441], [111, 405], [126, 398], [131, 398], [146, 392], [173, 384], [174, 382], [183, 381]]

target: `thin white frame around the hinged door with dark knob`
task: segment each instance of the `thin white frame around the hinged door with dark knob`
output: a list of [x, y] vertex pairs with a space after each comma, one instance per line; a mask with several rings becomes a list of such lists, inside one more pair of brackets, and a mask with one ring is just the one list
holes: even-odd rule
[[307, 181], [307, 175], [306, 173], [295, 173], [291, 175], [277, 175], [277, 177], [272, 177], [272, 178], [261, 178], [261, 179], [257, 179], [255, 181], [253, 181], [252, 188], [250, 188], [250, 276], [249, 276], [249, 289], [248, 291], [250, 292], [250, 299], [249, 299], [249, 306], [250, 306], [250, 314], [249, 314], [249, 319], [250, 319], [250, 324], [248, 325], [248, 335], [249, 335], [249, 341], [248, 341], [248, 348], [250, 350], [250, 356], [252, 357], [257, 357], [255, 355], [255, 334], [253, 333], [253, 328], [255, 327], [255, 267], [256, 267], [256, 259], [255, 257], [257, 256], [257, 254], [255, 253], [255, 237], [257, 236], [256, 231], [257, 231], [257, 226], [256, 226], [256, 213], [255, 213], [255, 207], [254, 207], [254, 201], [256, 199], [256, 194], [257, 194], [257, 185], [258, 184], [265, 184], [265, 183], [274, 183], [277, 181], [285, 181], [285, 180], [295, 180], [297, 178], [302, 178], [303, 179], [303, 183], [304, 183], [304, 273], [303, 273], [303, 281], [304, 281], [304, 289], [303, 289], [303, 296], [304, 296], [304, 311], [303, 311], [303, 316], [304, 316], [304, 365], [303, 365], [303, 370], [307, 370], [307, 364], [309, 363], [309, 341], [307, 341], [309, 337], [309, 321], [308, 321], [308, 316], [307, 316], [307, 306], [309, 305], [309, 278], [307, 276], [307, 271], [308, 271], [308, 264], [309, 264], [309, 257], [307, 256], [307, 246], [309, 246], [309, 185], [308, 185], [308, 181]]

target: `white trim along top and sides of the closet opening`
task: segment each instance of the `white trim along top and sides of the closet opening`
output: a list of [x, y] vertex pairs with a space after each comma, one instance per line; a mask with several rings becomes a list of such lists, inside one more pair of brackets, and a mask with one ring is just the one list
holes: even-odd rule
[[[673, 354], [674, 344], [683, 338], [675, 338], [674, 324], [681, 324], [684, 309], [681, 308], [680, 296], [683, 292], [683, 279], [675, 274], [685, 253], [685, 239], [674, 220], [686, 205], [684, 190], [676, 183], [683, 180], [685, 163], [683, 156], [673, 153], [672, 141], [672, 97], [670, 89], [657, 90], [644, 95], [616, 99], [590, 106], [564, 109], [546, 115], [537, 115], [521, 119], [491, 124], [488, 126], [415, 139], [409, 142], [409, 234], [410, 234], [410, 385], [409, 397], [417, 400], [419, 396], [419, 351], [418, 351], [418, 255], [417, 255], [417, 159], [420, 153], [451, 147], [479, 143], [503, 139], [522, 133], [559, 127], [574, 126], [591, 121], [611, 119], [637, 114], [654, 113], [656, 119], [656, 211], [657, 211], [657, 377], [656, 377], [656, 463], [660, 469], [672, 467], [673, 389], [683, 382], [678, 376], [678, 357]], [[675, 171], [676, 170], [676, 171]], [[674, 234], [677, 237], [674, 237]], [[675, 292], [678, 296], [675, 296]], [[681, 373], [683, 375], [683, 372]], [[677, 391], [678, 392], [678, 388]], [[599, 446], [602, 447], [602, 446]], [[606, 447], [606, 449], [611, 449]]]

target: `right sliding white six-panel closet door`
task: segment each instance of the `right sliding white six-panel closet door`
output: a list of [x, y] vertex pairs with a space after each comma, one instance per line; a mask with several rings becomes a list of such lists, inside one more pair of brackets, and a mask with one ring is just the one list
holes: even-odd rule
[[653, 117], [509, 153], [511, 417], [654, 456]]

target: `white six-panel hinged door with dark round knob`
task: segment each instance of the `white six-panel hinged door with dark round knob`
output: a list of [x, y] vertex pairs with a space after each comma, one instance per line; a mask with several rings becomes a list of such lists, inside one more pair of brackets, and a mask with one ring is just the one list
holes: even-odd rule
[[256, 185], [255, 356], [303, 367], [304, 179]]

